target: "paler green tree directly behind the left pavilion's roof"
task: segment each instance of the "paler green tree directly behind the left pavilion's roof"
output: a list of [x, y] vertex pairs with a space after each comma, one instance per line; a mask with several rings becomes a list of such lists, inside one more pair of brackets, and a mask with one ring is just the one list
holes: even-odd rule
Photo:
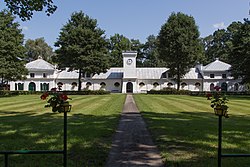
[[27, 58], [29, 60], [36, 60], [40, 56], [45, 61], [52, 61], [53, 49], [45, 42], [44, 38], [28, 39], [25, 43], [25, 48], [27, 49]]

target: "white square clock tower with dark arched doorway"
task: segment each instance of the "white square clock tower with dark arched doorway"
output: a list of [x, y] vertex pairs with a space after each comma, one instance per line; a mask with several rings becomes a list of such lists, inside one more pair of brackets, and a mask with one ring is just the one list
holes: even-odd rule
[[126, 51], [123, 56], [123, 87], [122, 93], [136, 92], [136, 56], [135, 51]]

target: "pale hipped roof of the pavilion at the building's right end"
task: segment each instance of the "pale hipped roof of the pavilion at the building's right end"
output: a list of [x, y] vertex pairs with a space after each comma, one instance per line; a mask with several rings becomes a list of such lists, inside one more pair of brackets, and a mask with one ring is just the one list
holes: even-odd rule
[[230, 64], [224, 63], [219, 59], [203, 67], [203, 71], [227, 71], [231, 68]]

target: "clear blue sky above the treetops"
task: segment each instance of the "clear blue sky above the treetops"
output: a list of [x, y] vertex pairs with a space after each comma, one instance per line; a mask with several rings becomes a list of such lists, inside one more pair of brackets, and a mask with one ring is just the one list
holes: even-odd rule
[[[146, 42], [158, 35], [171, 13], [182, 12], [194, 17], [200, 36], [206, 37], [234, 21], [250, 18], [250, 0], [54, 0], [56, 12], [47, 16], [35, 12], [30, 21], [19, 22], [25, 40], [43, 37], [53, 48], [61, 28], [73, 12], [83, 11], [97, 20], [109, 38], [118, 33], [129, 39]], [[0, 9], [5, 8], [3, 0]]]

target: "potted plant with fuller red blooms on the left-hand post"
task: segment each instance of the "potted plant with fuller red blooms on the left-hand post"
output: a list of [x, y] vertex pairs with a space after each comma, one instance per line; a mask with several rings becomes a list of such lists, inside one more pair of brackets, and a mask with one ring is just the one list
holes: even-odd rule
[[[52, 90], [51, 93], [45, 92], [40, 97], [42, 100], [47, 100], [47, 103], [44, 107], [52, 107], [53, 112], [70, 112], [71, 105], [69, 104], [68, 96], [63, 92]], [[70, 99], [71, 100], [71, 99]]]

